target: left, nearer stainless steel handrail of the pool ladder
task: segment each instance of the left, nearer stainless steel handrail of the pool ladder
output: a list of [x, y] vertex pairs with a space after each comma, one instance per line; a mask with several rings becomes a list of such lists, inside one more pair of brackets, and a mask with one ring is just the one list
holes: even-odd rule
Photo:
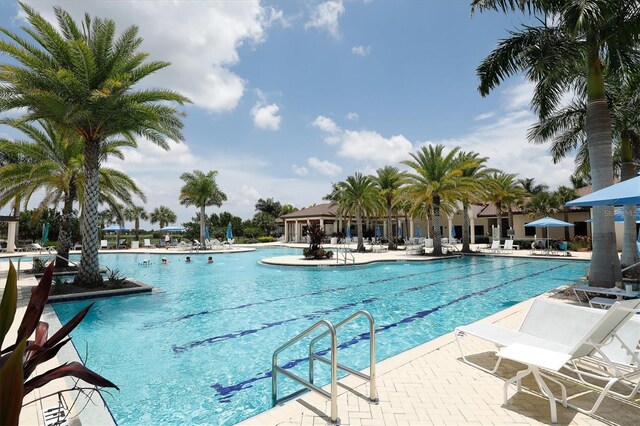
[[[324, 389], [315, 386], [311, 381], [306, 381], [297, 375], [286, 371], [284, 368], [278, 366], [278, 355], [280, 352], [289, 348], [294, 343], [300, 341], [304, 337], [313, 333], [316, 329], [320, 327], [327, 327], [327, 331], [322, 333], [323, 336], [327, 334], [331, 335], [331, 392], [327, 392]], [[336, 337], [336, 329], [330, 321], [320, 320], [311, 327], [307, 328], [302, 333], [295, 336], [293, 339], [289, 340], [284, 345], [280, 346], [273, 352], [273, 357], [271, 358], [271, 403], [275, 406], [278, 403], [278, 373], [282, 373], [285, 376], [293, 379], [312, 391], [315, 391], [325, 397], [326, 399], [331, 401], [331, 422], [340, 423], [340, 419], [338, 418], [338, 360], [336, 358], [336, 351], [338, 349], [338, 339]]]

